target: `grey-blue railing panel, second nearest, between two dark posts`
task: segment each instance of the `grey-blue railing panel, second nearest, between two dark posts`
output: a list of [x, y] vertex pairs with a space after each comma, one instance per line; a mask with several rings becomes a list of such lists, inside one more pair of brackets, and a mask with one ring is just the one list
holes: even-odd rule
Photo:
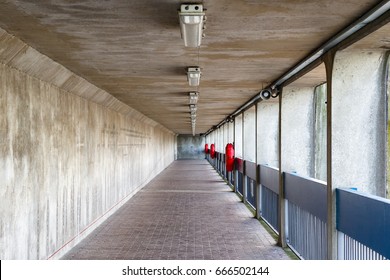
[[304, 178], [296, 174], [283, 173], [283, 175], [285, 198], [326, 222], [326, 184], [322, 181]]

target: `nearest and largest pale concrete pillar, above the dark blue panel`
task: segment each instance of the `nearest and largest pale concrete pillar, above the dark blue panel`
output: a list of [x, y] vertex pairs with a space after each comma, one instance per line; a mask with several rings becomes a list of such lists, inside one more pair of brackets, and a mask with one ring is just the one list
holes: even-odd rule
[[335, 187], [385, 196], [385, 51], [339, 52], [333, 69], [332, 179]]

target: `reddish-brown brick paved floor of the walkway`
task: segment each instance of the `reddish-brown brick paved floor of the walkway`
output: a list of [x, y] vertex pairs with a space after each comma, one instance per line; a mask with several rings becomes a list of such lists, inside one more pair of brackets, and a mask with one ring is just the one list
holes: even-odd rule
[[206, 160], [180, 160], [63, 259], [289, 257]]

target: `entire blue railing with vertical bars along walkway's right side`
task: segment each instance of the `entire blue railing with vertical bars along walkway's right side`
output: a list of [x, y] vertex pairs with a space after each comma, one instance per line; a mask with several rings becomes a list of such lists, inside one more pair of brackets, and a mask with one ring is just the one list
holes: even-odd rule
[[[207, 159], [232, 183], [243, 201], [256, 210], [257, 217], [277, 234], [283, 230], [287, 245], [300, 258], [327, 259], [326, 182], [279, 172], [277, 168], [239, 158], [235, 159], [234, 171], [227, 173], [221, 156]], [[279, 187], [285, 198], [284, 224], [279, 222]], [[390, 200], [355, 190], [336, 189], [336, 208], [338, 259], [390, 259]]]

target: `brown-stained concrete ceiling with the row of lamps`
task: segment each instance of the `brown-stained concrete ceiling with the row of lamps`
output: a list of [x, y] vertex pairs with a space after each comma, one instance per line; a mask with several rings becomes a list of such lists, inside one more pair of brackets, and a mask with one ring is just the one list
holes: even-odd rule
[[[380, 1], [200, 1], [207, 29], [199, 49], [184, 47], [181, 2], [2, 1], [0, 27], [175, 133], [190, 134], [187, 66], [202, 68], [196, 132], [204, 133]], [[302, 83], [322, 81], [319, 68]]]

